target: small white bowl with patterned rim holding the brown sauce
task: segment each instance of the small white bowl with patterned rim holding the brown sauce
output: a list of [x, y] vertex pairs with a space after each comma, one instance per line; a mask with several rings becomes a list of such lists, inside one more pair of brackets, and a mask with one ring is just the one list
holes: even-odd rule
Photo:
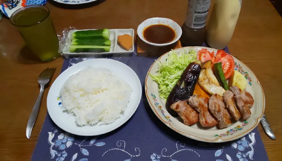
[[[154, 25], [154, 24], [164, 24], [167, 25], [169, 27], [171, 27], [174, 31], [175, 31], [175, 38], [169, 42], [169, 43], [165, 43], [165, 44], [155, 44], [152, 42], [148, 42], [143, 35], [143, 30], [150, 26], [150, 25]], [[153, 45], [153, 46], [167, 46], [170, 44], [175, 43], [176, 41], [178, 41], [180, 39], [180, 36], [182, 35], [182, 29], [179, 26], [179, 24], [177, 24], [175, 21], [171, 20], [171, 19], [167, 19], [167, 18], [161, 18], [161, 17], [154, 17], [154, 18], [150, 18], [150, 19], [146, 19], [145, 21], [143, 21], [137, 28], [137, 34], [140, 37], [140, 39], [142, 41], [144, 41], [147, 44]]]

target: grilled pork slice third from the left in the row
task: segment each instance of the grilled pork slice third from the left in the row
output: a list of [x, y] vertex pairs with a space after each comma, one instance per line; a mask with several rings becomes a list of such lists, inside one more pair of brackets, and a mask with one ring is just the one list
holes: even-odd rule
[[219, 128], [225, 128], [231, 124], [230, 115], [225, 109], [223, 98], [218, 94], [213, 94], [209, 98], [209, 110], [218, 121]]

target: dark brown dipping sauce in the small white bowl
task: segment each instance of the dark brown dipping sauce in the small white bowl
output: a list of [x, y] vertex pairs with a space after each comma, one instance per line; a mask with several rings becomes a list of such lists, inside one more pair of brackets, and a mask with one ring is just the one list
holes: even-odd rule
[[146, 27], [143, 30], [143, 35], [148, 42], [165, 44], [171, 42], [175, 38], [175, 31], [167, 25], [155, 24]]

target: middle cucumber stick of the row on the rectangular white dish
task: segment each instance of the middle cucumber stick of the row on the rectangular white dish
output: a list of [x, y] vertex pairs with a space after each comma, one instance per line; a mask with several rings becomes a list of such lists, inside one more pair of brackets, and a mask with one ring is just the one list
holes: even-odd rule
[[71, 45], [111, 45], [111, 41], [105, 39], [73, 39]]

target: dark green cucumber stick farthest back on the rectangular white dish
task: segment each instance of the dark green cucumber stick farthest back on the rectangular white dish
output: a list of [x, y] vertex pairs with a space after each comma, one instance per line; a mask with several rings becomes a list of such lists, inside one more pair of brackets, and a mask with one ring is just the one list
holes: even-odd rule
[[109, 39], [110, 38], [110, 31], [109, 29], [99, 29], [99, 30], [80, 30], [75, 31], [71, 35], [71, 39]]

